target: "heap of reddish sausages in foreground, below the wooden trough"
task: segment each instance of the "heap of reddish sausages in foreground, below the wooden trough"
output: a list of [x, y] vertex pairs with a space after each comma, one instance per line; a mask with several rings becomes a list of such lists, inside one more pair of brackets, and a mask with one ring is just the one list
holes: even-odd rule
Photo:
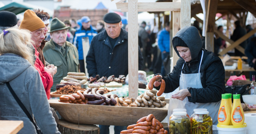
[[167, 134], [163, 124], [153, 114], [140, 118], [136, 124], [127, 127], [121, 134]]

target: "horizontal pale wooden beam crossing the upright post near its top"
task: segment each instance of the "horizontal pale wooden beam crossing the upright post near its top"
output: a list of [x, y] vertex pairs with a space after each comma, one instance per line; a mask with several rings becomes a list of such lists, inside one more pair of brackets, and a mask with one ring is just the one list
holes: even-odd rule
[[[116, 3], [117, 9], [121, 9], [122, 12], [127, 12], [128, 3]], [[159, 11], [180, 11], [180, 10], [181, 10], [180, 2], [139, 2], [138, 9], [137, 9], [138, 12], [145, 12], [145, 11], [159, 12]]]

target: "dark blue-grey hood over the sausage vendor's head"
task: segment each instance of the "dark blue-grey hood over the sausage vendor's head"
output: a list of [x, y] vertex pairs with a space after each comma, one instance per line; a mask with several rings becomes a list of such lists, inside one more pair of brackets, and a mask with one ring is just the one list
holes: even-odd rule
[[199, 31], [194, 26], [185, 26], [180, 29], [177, 34], [172, 38], [173, 49], [177, 53], [177, 55], [181, 58], [179, 52], [176, 49], [176, 46], [179, 46], [174, 40], [177, 38], [181, 39], [186, 43], [190, 52], [191, 52], [191, 60], [198, 57], [200, 50], [202, 49], [202, 40], [199, 35]]

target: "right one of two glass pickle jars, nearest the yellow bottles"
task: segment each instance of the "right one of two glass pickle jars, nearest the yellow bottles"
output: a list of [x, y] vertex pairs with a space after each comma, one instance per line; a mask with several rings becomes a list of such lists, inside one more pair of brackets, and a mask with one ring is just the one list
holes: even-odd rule
[[212, 134], [213, 120], [208, 111], [196, 111], [191, 118], [192, 134]]

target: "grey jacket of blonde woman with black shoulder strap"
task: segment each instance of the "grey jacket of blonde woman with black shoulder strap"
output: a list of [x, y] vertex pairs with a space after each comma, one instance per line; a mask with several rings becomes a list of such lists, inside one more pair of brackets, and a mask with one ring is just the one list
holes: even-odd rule
[[42, 132], [60, 134], [38, 71], [24, 58], [10, 53], [0, 56], [0, 70], [1, 120], [23, 121], [24, 127], [19, 134], [36, 134], [34, 125], [6, 86], [5, 82], [9, 82]]

